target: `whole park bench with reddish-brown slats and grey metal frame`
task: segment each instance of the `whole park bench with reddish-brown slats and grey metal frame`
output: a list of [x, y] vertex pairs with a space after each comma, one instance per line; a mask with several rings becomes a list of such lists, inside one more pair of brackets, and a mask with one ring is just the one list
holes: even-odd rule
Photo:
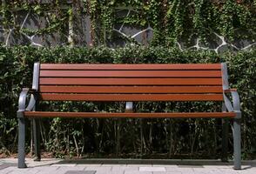
[[[232, 102], [227, 93], [231, 93]], [[29, 104], [26, 97], [30, 94]], [[39, 101], [126, 102], [124, 113], [37, 111]], [[140, 101], [221, 101], [220, 112], [132, 112]], [[205, 111], [205, 110], [199, 110]], [[40, 160], [38, 117], [232, 118], [234, 168], [241, 168], [240, 104], [229, 89], [226, 64], [34, 64], [31, 89], [19, 97], [18, 167], [25, 164], [25, 119], [33, 118], [35, 155]], [[226, 125], [226, 119], [223, 119]], [[222, 150], [227, 151], [223, 131]], [[225, 160], [225, 155], [222, 159]]]

